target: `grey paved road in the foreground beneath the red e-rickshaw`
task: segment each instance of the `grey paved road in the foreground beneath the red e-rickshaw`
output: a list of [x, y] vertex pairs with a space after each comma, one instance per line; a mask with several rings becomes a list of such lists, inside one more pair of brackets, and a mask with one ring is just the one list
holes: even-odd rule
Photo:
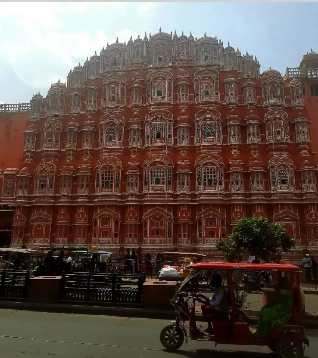
[[[267, 347], [189, 342], [178, 353], [162, 349], [159, 333], [170, 321], [0, 310], [1, 358], [270, 358]], [[306, 358], [317, 357], [318, 331], [308, 330]]]

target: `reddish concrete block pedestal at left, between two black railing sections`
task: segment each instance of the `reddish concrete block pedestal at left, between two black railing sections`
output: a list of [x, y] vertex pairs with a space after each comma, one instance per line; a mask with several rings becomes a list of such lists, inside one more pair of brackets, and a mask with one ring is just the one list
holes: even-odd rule
[[28, 280], [28, 302], [58, 303], [62, 276], [39, 276]]

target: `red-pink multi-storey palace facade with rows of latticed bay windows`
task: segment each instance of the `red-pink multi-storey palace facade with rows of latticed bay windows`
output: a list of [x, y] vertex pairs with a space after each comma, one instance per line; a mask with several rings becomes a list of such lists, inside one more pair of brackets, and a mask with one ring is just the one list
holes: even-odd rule
[[155, 255], [264, 216], [318, 252], [318, 54], [285, 77], [216, 37], [103, 47], [47, 96], [0, 105], [0, 246]]

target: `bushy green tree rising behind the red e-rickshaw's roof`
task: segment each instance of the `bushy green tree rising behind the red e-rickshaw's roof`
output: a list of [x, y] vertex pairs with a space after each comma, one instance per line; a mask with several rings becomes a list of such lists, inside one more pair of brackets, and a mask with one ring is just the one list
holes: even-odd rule
[[240, 219], [228, 240], [220, 241], [216, 247], [229, 262], [243, 255], [254, 255], [268, 261], [278, 248], [287, 252], [295, 247], [295, 243], [293, 237], [279, 224], [270, 224], [264, 217], [250, 217]]

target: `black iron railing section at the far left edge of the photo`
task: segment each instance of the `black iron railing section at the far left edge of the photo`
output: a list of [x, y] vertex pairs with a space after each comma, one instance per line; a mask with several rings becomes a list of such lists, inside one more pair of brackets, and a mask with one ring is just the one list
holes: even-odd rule
[[29, 270], [2, 270], [0, 275], [0, 298], [26, 299], [30, 277]]

